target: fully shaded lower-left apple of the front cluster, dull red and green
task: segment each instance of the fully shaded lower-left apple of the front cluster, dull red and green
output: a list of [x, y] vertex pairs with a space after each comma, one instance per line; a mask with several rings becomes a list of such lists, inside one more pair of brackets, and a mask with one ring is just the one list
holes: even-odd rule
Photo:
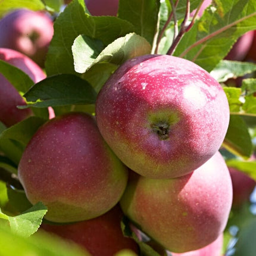
[[94, 117], [67, 113], [35, 133], [21, 157], [18, 177], [29, 201], [48, 207], [47, 220], [72, 222], [114, 207], [128, 171], [102, 139]]

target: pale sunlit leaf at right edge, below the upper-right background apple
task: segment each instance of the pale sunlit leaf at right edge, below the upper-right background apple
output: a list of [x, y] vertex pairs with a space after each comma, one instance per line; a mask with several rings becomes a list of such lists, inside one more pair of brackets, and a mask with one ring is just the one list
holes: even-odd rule
[[227, 79], [245, 76], [245, 74], [254, 71], [256, 71], [255, 63], [221, 60], [210, 74], [221, 83], [226, 82]]

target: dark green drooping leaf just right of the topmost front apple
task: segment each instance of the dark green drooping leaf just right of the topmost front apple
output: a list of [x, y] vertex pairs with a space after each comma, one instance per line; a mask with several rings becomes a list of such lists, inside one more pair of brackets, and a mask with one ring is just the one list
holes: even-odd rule
[[252, 141], [245, 121], [239, 115], [230, 115], [229, 128], [223, 146], [235, 155], [249, 158], [252, 154]]

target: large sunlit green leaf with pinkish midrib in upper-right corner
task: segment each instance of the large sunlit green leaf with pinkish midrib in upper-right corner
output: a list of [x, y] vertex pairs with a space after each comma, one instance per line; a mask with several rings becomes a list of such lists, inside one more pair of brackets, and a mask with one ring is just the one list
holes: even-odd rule
[[201, 19], [185, 33], [174, 52], [207, 71], [222, 60], [233, 43], [256, 29], [256, 5], [252, 0], [214, 0]]

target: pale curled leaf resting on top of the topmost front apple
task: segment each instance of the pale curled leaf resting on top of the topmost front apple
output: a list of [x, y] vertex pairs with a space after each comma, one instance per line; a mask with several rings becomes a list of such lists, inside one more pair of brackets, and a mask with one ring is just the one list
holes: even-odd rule
[[[92, 55], [92, 52], [86, 52], [88, 48], [88, 43], [86, 40], [83, 41], [83, 37], [80, 36], [74, 41], [73, 45], [73, 55], [76, 71], [79, 73], [85, 73], [89, 70], [92, 65], [98, 63], [112, 63], [120, 65], [124, 61], [139, 56], [150, 54], [151, 45], [139, 35], [135, 33], [129, 33], [124, 37], [115, 39], [113, 43], [110, 43], [100, 54], [96, 55], [98, 51], [93, 51], [95, 55]], [[99, 49], [102, 47], [100, 45], [95, 45], [95, 48]]]

